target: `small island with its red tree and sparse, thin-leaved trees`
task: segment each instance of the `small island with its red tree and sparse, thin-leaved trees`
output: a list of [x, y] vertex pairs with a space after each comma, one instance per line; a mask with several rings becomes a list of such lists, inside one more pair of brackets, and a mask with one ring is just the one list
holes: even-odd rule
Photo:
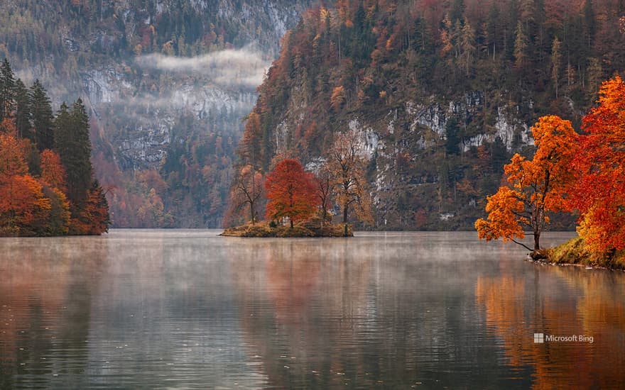
[[[291, 158], [278, 162], [266, 175], [254, 165], [242, 165], [237, 169], [229, 214], [240, 215], [244, 211], [249, 220], [226, 228], [221, 235], [353, 237], [348, 223], [350, 210], [360, 221], [372, 221], [370, 194], [363, 185], [365, 161], [358, 152], [360, 149], [358, 138], [345, 133], [337, 136], [332, 154], [314, 173], [307, 172], [298, 160]], [[341, 211], [341, 223], [332, 223], [335, 207]], [[257, 208], [265, 208], [266, 221], [259, 221]]]

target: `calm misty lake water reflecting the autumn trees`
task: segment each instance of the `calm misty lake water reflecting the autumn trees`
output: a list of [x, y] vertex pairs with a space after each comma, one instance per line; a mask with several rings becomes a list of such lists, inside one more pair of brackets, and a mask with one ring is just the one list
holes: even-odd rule
[[625, 386], [624, 272], [476, 233], [218, 233], [0, 239], [0, 388]]

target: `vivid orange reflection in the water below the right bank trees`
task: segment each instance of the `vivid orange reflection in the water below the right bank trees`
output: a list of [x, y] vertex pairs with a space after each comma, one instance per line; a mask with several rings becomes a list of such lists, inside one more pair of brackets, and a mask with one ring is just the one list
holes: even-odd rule
[[[623, 386], [625, 279], [620, 272], [535, 266], [479, 277], [476, 299], [500, 340], [504, 362], [531, 367], [533, 387]], [[575, 335], [579, 342], [535, 343], [529, 335]], [[582, 336], [592, 337], [582, 341]]]

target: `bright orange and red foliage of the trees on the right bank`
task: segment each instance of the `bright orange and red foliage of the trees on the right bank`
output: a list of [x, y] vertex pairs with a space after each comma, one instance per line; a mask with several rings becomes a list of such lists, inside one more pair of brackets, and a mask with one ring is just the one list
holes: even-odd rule
[[577, 211], [577, 232], [590, 252], [625, 248], [625, 82], [618, 76], [604, 82], [598, 103], [581, 135], [557, 116], [540, 118], [532, 128], [533, 160], [514, 155], [506, 165], [511, 186], [487, 198], [489, 216], [475, 223], [479, 238], [514, 241], [531, 228], [538, 250], [545, 212]]

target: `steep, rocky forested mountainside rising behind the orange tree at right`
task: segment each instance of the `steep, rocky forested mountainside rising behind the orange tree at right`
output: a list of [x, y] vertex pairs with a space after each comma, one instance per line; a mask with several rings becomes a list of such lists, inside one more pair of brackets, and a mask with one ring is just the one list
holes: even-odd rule
[[[352, 129], [383, 229], [471, 228], [546, 113], [579, 128], [625, 69], [623, 0], [362, 0], [306, 12], [259, 88], [243, 157], [309, 168]], [[254, 158], [251, 158], [254, 157]], [[560, 218], [553, 228], [570, 226]]]

